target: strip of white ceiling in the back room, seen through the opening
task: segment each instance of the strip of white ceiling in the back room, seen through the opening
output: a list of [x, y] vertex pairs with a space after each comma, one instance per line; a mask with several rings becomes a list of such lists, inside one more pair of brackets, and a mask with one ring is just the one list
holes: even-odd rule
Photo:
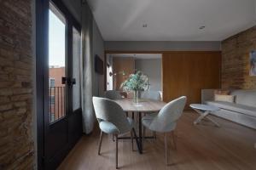
[[162, 54], [110, 54], [112, 57], [134, 57], [135, 59], [161, 59]]

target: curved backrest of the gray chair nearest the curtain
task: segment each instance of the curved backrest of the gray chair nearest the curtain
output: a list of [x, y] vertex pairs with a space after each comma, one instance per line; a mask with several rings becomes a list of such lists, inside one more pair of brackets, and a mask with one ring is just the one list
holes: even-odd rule
[[92, 102], [98, 122], [113, 123], [119, 129], [119, 133], [125, 133], [131, 129], [125, 111], [116, 102], [99, 97], [92, 97]]

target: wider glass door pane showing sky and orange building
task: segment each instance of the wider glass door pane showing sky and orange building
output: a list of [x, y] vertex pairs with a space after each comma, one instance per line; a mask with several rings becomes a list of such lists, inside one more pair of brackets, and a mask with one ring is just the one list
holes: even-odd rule
[[54, 5], [49, 7], [49, 122], [66, 115], [66, 20]]

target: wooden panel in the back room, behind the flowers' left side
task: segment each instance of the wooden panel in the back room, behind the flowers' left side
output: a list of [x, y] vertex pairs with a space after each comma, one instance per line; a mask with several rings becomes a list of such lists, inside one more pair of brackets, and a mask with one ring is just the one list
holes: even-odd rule
[[[113, 89], [120, 90], [120, 85], [124, 82], [130, 74], [134, 73], [135, 60], [134, 58], [113, 57]], [[125, 75], [121, 74], [125, 71]]]

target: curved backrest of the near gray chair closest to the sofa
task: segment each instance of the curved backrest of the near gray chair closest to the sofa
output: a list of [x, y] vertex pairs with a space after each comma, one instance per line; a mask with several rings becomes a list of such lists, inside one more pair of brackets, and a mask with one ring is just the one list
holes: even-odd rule
[[150, 129], [157, 132], [169, 132], [176, 127], [178, 118], [182, 115], [187, 97], [182, 96], [166, 104], [150, 124]]

